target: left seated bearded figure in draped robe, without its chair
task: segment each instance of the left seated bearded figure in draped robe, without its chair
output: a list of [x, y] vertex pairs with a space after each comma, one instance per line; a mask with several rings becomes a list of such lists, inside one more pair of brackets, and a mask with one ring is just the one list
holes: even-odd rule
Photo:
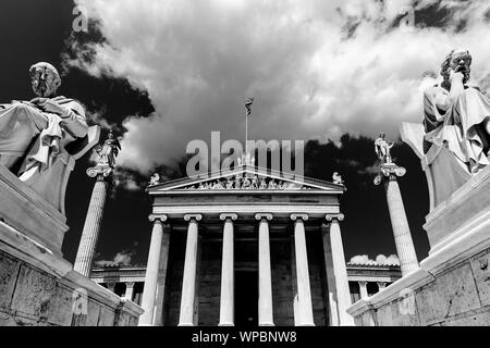
[[82, 105], [56, 96], [61, 78], [54, 66], [37, 63], [29, 72], [37, 97], [0, 104], [0, 163], [17, 175], [48, 170], [61, 149], [88, 130]]

